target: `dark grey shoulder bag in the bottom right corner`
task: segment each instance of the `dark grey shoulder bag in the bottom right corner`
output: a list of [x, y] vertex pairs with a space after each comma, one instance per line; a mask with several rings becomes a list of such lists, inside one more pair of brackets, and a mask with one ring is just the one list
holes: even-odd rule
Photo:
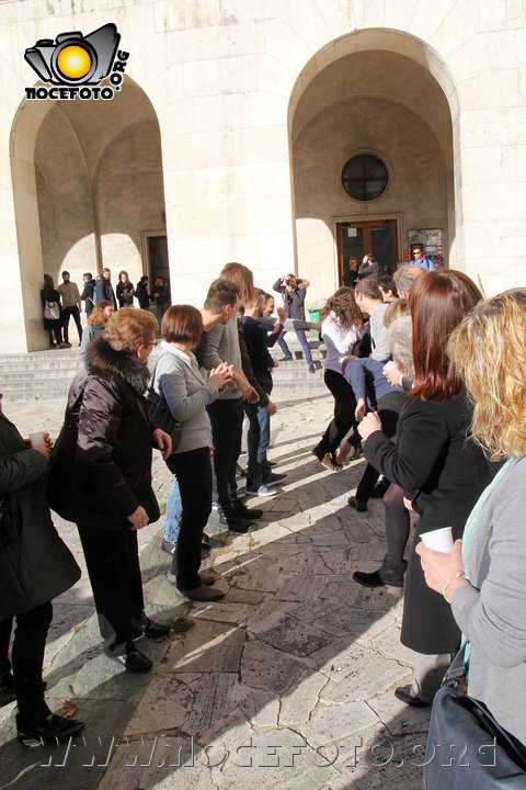
[[433, 701], [424, 790], [526, 790], [526, 748], [482, 702], [459, 693], [464, 652]]

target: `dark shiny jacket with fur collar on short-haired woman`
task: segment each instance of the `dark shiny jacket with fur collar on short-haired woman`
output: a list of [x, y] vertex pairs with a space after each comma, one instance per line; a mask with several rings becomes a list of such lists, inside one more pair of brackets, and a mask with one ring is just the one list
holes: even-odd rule
[[149, 371], [103, 338], [89, 347], [90, 366], [75, 377], [52, 458], [49, 504], [60, 516], [100, 529], [129, 529], [141, 505], [151, 521], [152, 431], [146, 410]]

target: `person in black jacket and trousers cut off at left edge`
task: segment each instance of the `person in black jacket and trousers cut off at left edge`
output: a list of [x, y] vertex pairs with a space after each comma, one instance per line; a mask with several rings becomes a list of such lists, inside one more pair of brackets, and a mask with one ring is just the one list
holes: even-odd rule
[[42, 684], [50, 601], [80, 578], [49, 516], [50, 441], [44, 438], [32, 447], [0, 408], [0, 704], [16, 699], [18, 738], [24, 746], [67, 741], [83, 729], [75, 719], [52, 713]]

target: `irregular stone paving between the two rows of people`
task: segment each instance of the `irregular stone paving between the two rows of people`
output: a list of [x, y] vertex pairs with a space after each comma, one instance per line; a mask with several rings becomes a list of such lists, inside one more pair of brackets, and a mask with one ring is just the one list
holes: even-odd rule
[[[148, 610], [191, 628], [142, 648], [156, 664], [133, 676], [104, 658], [85, 572], [55, 601], [46, 651], [49, 704], [70, 700], [84, 737], [23, 751], [14, 706], [0, 709], [0, 788], [47, 790], [416, 790], [422, 787], [427, 710], [393, 697], [411, 678], [399, 642], [401, 600], [354, 584], [356, 566], [384, 555], [381, 501], [346, 505], [363, 461], [330, 473], [310, 453], [331, 417], [330, 396], [276, 397], [271, 458], [288, 477], [260, 529], [228, 537], [205, 565], [226, 598], [191, 605], [165, 578], [162, 522], [142, 530]], [[24, 435], [56, 437], [64, 400], [7, 402]], [[153, 465], [159, 500], [170, 475]], [[255, 500], [252, 501], [255, 504]], [[56, 519], [82, 565], [76, 528]], [[207, 531], [219, 533], [213, 515]]]

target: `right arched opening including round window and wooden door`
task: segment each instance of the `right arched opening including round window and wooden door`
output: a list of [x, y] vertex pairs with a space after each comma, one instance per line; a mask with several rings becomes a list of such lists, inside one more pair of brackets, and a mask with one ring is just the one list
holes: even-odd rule
[[320, 295], [350, 255], [396, 268], [423, 241], [455, 260], [455, 98], [425, 44], [390, 31], [344, 36], [305, 67], [289, 106], [295, 232]]

